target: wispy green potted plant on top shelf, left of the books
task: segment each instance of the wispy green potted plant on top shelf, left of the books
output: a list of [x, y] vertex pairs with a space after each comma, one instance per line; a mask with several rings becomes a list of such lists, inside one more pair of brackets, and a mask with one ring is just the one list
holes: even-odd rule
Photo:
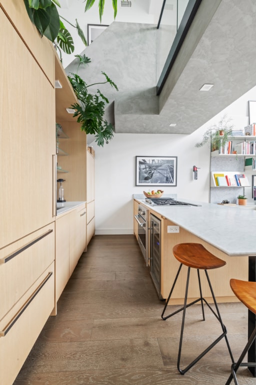
[[[230, 123], [232, 119], [224, 115], [217, 124], [209, 127], [202, 135], [202, 140], [195, 144], [195, 147], [202, 147], [204, 144], [211, 143], [211, 151], [224, 147], [232, 136], [234, 126]], [[221, 133], [221, 134], [220, 134]]]

